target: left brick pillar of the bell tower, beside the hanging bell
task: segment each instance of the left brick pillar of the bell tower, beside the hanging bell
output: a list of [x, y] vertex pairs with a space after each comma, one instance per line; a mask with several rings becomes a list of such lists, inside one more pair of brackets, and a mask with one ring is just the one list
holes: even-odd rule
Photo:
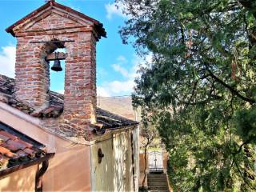
[[46, 47], [30, 43], [34, 37], [20, 37], [16, 49], [15, 96], [38, 109], [49, 103], [49, 65], [42, 59]]

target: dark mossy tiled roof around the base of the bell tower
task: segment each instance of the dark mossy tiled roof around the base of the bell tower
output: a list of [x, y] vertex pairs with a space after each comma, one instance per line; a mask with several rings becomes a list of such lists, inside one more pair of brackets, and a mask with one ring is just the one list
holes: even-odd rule
[[[3, 96], [2, 98], [1, 95]], [[14, 98], [14, 79], [0, 74], [0, 101], [6, 102], [10, 106], [37, 118], [57, 118], [63, 112], [64, 96], [50, 91], [50, 105], [44, 110], [36, 111]], [[138, 125], [138, 122], [112, 114], [101, 108], [97, 108], [96, 117], [97, 125], [103, 129]]]

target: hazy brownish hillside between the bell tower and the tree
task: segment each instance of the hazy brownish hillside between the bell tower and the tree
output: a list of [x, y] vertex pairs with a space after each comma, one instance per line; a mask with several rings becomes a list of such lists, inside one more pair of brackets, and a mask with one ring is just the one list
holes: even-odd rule
[[140, 119], [140, 113], [136, 113], [133, 109], [130, 96], [126, 97], [98, 97], [97, 106], [103, 110], [109, 110], [114, 114], [121, 115], [125, 118], [130, 118], [137, 121]]

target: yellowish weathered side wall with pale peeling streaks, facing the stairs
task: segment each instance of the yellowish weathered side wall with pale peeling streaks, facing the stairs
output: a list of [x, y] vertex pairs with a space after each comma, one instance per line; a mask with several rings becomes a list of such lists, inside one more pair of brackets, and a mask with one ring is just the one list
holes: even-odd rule
[[[134, 191], [134, 183], [137, 181], [134, 181], [133, 174], [132, 150], [134, 146], [132, 148], [131, 133], [132, 130], [125, 130], [112, 134], [102, 142], [96, 142], [94, 146], [91, 146], [93, 191]], [[101, 163], [98, 163], [99, 148], [104, 154]], [[136, 161], [134, 159], [134, 164]], [[136, 171], [134, 170], [134, 173]]]

